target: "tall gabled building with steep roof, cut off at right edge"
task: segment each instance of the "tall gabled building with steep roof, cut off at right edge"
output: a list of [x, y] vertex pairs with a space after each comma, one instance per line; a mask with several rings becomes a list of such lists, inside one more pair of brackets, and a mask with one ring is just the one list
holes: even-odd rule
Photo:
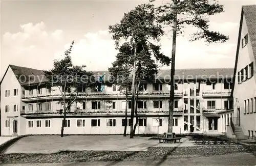
[[243, 6], [234, 67], [234, 125], [248, 139], [256, 135], [256, 5]]

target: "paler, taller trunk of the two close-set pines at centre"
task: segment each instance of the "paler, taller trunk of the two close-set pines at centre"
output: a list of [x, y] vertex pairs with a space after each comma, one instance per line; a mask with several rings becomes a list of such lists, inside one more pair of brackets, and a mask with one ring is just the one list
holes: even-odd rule
[[135, 103], [135, 74], [136, 74], [136, 51], [137, 51], [137, 44], [135, 41], [134, 44], [134, 63], [133, 63], [133, 82], [132, 82], [132, 110], [131, 110], [131, 130], [130, 130], [130, 139], [133, 139], [133, 118], [134, 118], [134, 103]]

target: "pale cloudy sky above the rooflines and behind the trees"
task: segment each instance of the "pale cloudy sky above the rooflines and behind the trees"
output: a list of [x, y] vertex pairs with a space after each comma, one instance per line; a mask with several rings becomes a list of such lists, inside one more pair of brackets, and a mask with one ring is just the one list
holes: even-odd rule
[[[75, 40], [74, 64], [88, 70], [108, 70], [117, 51], [109, 25], [148, 1], [1, 1], [2, 78], [9, 64], [51, 69], [53, 60]], [[157, 2], [160, 4], [162, 1]], [[241, 6], [256, 1], [220, 1], [225, 12], [210, 17], [211, 30], [229, 35], [223, 44], [189, 42], [186, 31], [177, 40], [177, 68], [234, 67]], [[162, 51], [170, 56], [172, 38], [162, 38]], [[166, 68], [166, 67], [165, 67]]]

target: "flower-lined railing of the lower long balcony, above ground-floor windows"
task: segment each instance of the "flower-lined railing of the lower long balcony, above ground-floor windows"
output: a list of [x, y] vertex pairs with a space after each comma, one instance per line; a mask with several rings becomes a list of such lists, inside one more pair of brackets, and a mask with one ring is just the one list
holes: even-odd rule
[[[60, 115], [62, 114], [63, 110], [22, 110], [20, 115], [44, 115], [44, 114], [55, 114]], [[168, 110], [163, 109], [138, 109], [138, 114], [167, 114], [169, 113]], [[131, 109], [127, 110], [127, 113], [131, 113]], [[124, 109], [74, 109], [74, 110], [67, 110], [67, 114], [125, 114]], [[183, 110], [175, 110], [174, 115], [182, 115]]]

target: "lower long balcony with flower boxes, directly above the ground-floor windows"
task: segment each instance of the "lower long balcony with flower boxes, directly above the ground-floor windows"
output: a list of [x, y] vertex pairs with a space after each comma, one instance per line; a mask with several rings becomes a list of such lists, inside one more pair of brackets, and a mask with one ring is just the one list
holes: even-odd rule
[[[168, 110], [163, 109], [138, 109], [138, 115], [166, 115], [168, 114]], [[128, 116], [131, 114], [131, 109], [127, 110]], [[93, 116], [100, 116], [100, 115], [124, 115], [125, 110], [117, 110], [117, 109], [75, 109], [71, 111], [67, 111], [68, 115], [93, 115]], [[20, 113], [23, 117], [38, 117], [38, 116], [44, 116], [44, 117], [59, 117], [63, 116], [62, 110], [22, 110]], [[183, 110], [174, 110], [174, 115], [183, 115]]]

